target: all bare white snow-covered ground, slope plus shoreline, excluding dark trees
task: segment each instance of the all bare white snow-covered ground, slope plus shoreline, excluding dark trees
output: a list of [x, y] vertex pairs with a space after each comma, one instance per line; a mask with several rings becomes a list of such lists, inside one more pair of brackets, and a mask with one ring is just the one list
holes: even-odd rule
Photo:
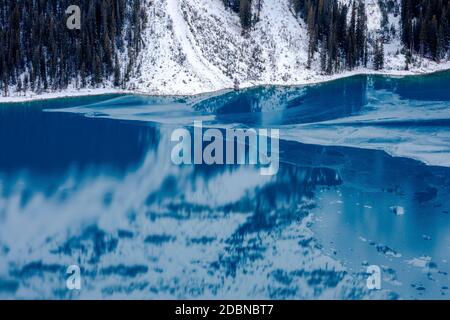
[[[259, 22], [242, 34], [239, 17], [225, 9], [221, 0], [159, 0], [147, 3], [148, 24], [144, 49], [126, 91], [105, 84], [102, 89], [24, 95], [11, 93], [0, 102], [47, 99], [86, 94], [131, 92], [148, 95], [196, 95], [257, 85], [303, 85], [355, 74], [415, 75], [450, 69], [450, 62], [416, 59], [405, 70], [401, 54], [399, 16], [389, 14], [389, 25], [397, 30], [385, 45], [385, 68], [381, 72], [360, 68], [332, 76], [320, 72], [319, 56], [306, 68], [308, 34], [304, 21], [296, 17], [289, 0], [261, 0], [254, 9]], [[340, 0], [348, 3], [348, 0]], [[368, 29], [377, 36], [381, 23], [378, 0], [365, 0]], [[11, 90], [12, 92], [13, 90]]]

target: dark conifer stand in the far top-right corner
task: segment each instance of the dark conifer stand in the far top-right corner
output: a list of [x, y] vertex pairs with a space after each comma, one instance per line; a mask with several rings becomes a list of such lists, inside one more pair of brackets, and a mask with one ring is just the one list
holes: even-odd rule
[[443, 59], [450, 45], [450, 0], [402, 0], [402, 41], [408, 54]]

